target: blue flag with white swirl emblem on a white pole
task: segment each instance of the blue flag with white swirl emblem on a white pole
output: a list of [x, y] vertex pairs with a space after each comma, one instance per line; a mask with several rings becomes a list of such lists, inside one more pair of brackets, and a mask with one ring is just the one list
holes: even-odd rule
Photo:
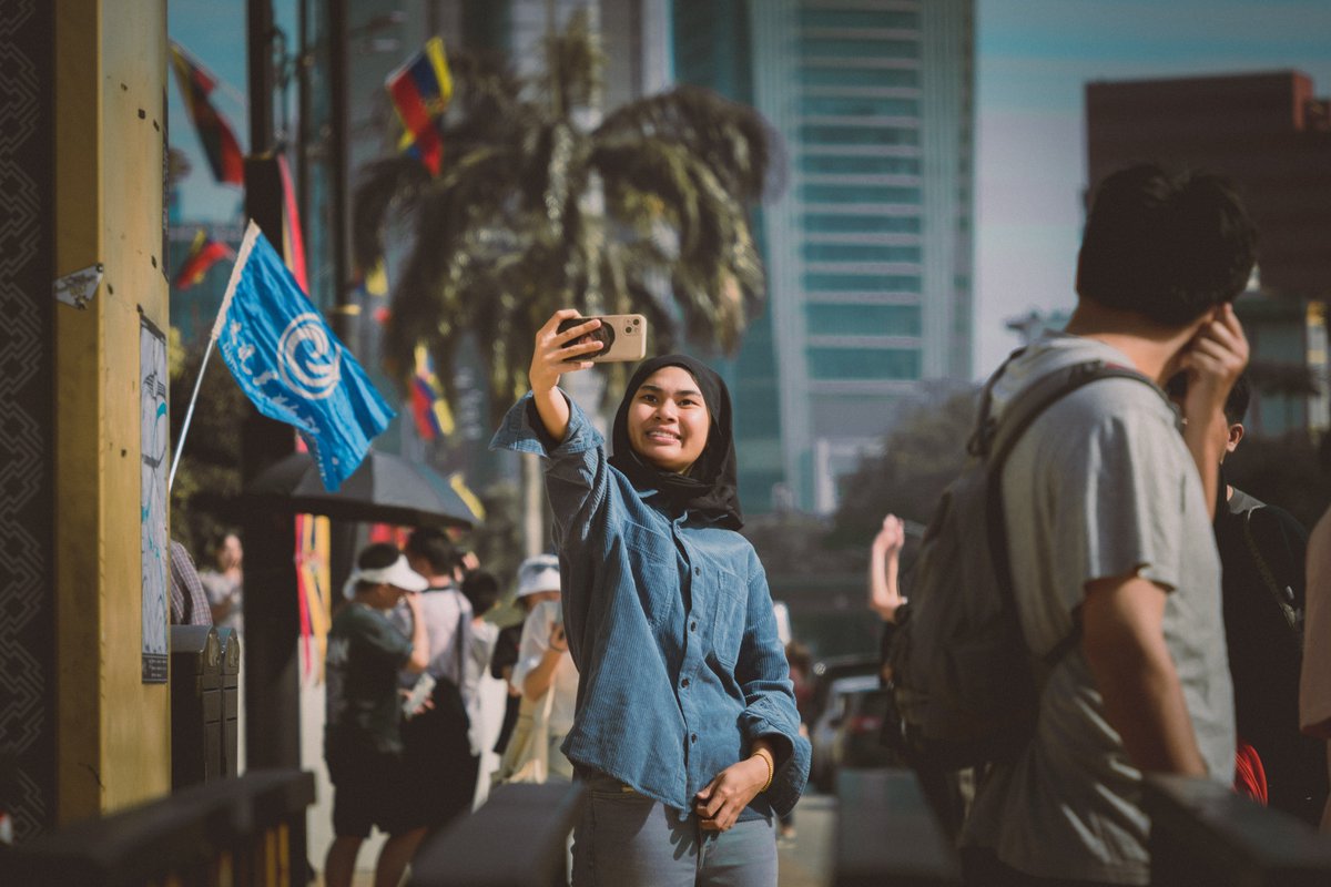
[[295, 426], [323, 485], [337, 492], [394, 414], [254, 222], [213, 338], [246, 396], [265, 416]]

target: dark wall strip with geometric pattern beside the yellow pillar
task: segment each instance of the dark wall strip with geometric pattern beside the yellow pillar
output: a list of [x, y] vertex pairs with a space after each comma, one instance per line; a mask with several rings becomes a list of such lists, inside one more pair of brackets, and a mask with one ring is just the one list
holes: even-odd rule
[[55, 4], [0, 3], [0, 807], [56, 821]]

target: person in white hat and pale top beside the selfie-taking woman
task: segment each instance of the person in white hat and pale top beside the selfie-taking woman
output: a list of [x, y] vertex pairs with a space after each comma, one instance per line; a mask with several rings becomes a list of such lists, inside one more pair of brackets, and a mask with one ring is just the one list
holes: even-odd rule
[[[551, 596], [552, 593], [552, 596]], [[522, 625], [512, 685], [530, 707], [552, 694], [546, 710], [547, 779], [571, 781], [574, 765], [559, 746], [574, 726], [578, 702], [578, 666], [568, 654], [559, 602], [559, 560], [554, 555], [528, 557], [518, 569], [518, 598], [536, 600]]]

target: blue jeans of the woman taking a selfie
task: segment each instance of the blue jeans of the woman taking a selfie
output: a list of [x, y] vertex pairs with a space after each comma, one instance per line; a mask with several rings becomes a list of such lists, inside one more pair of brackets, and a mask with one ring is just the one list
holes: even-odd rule
[[574, 828], [574, 887], [776, 887], [771, 819], [704, 831], [659, 801], [594, 777]]

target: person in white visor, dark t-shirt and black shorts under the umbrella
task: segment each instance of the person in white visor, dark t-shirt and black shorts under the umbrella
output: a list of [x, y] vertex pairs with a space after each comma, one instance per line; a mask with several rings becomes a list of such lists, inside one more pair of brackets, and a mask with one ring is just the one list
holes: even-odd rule
[[[370, 545], [351, 573], [350, 604], [329, 629], [323, 757], [335, 789], [335, 838], [323, 867], [327, 887], [351, 884], [355, 856], [371, 827], [389, 834], [379, 851], [377, 884], [401, 880], [425, 835], [415, 807], [399, 803], [410, 774], [402, 762], [398, 669], [419, 674], [430, 662], [430, 640], [417, 594], [429, 585], [395, 545]], [[399, 598], [415, 617], [410, 640], [387, 620]]]

